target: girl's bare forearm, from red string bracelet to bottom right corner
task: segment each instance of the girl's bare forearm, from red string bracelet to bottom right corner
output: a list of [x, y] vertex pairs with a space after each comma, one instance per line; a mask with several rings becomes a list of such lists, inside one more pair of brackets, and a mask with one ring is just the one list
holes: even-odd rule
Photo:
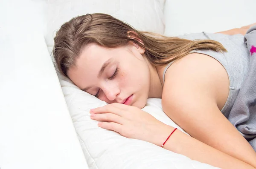
[[[174, 128], [169, 126], [169, 131]], [[166, 135], [166, 133], [164, 133]], [[207, 163], [222, 169], [255, 169], [253, 166], [233, 158], [185, 133], [176, 130], [163, 148], [185, 155], [192, 160]]]

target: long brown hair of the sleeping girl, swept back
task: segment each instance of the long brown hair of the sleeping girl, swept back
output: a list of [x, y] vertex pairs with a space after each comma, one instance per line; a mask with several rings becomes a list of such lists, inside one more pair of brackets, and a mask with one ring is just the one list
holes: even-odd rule
[[214, 40], [192, 41], [140, 32], [111, 15], [96, 13], [74, 17], [61, 26], [54, 38], [52, 50], [55, 67], [58, 72], [67, 76], [67, 71], [75, 66], [76, 58], [84, 46], [96, 43], [106, 48], [115, 48], [124, 46], [129, 41], [145, 49], [145, 56], [155, 66], [178, 60], [193, 50], [226, 51], [221, 43]]

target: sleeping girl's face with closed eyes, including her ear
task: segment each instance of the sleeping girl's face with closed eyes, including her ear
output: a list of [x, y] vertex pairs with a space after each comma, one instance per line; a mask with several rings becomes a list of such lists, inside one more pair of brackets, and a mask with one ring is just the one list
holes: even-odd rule
[[76, 86], [100, 100], [141, 109], [150, 89], [150, 64], [144, 52], [132, 42], [112, 49], [90, 44], [67, 75]]

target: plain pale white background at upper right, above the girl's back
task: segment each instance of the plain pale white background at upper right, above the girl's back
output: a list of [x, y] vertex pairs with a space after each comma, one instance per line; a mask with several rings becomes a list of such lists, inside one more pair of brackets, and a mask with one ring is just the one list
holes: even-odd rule
[[220, 32], [256, 22], [255, 0], [166, 0], [166, 36]]

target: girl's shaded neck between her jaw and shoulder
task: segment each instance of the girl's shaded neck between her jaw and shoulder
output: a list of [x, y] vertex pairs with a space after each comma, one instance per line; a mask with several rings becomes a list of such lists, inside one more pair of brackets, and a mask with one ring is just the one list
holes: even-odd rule
[[162, 98], [163, 86], [159, 78], [156, 66], [149, 64], [150, 87], [148, 98]]

